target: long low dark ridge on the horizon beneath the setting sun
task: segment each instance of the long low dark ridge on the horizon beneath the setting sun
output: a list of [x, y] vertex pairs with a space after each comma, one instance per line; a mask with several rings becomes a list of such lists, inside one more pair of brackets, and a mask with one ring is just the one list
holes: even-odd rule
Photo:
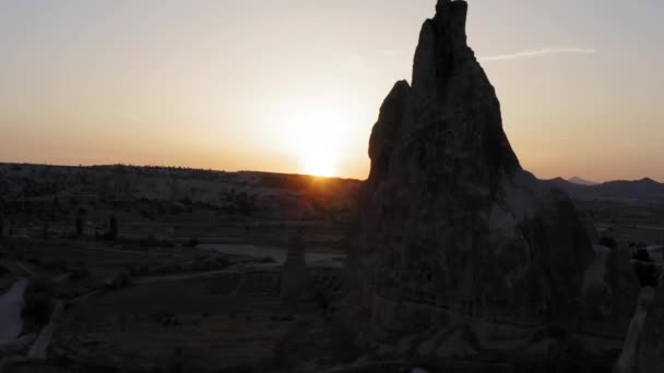
[[0, 163], [0, 215], [3, 201], [10, 201], [39, 208], [83, 207], [91, 214], [150, 205], [156, 210], [198, 206], [268, 219], [318, 218], [332, 210], [351, 214], [360, 185], [352, 179], [259, 171]]

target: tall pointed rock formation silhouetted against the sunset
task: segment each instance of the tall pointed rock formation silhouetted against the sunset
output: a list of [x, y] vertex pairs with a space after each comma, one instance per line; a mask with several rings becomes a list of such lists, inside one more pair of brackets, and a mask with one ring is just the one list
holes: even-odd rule
[[573, 324], [594, 256], [570, 200], [521, 168], [466, 44], [466, 12], [438, 1], [412, 86], [394, 85], [371, 132], [349, 257], [380, 335]]

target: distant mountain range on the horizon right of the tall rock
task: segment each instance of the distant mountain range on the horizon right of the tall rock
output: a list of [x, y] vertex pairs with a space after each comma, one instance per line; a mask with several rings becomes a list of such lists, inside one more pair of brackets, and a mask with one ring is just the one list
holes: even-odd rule
[[576, 183], [572, 179], [565, 180], [556, 178], [548, 180], [557, 188], [566, 191], [570, 196], [578, 200], [605, 200], [624, 203], [664, 204], [664, 183], [644, 178], [641, 180], [616, 180], [601, 184], [588, 185]]

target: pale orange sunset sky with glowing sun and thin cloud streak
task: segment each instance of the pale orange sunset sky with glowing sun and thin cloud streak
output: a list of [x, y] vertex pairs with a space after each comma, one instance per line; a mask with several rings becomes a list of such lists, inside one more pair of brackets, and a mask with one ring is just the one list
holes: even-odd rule
[[[364, 179], [435, 0], [0, 0], [0, 161]], [[664, 181], [661, 0], [469, 0], [522, 166]]]

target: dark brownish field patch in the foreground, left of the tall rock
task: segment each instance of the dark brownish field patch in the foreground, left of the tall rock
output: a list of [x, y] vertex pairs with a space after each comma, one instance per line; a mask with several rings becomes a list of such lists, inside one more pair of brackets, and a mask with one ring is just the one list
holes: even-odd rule
[[[92, 364], [122, 366], [132, 361], [146, 370], [155, 361], [179, 361], [186, 371], [275, 366], [276, 360], [292, 358], [280, 348], [295, 330], [324, 332], [333, 320], [316, 302], [284, 305], [274, 289], [277, 276], [224, 274], [93, 297], [68, 310], [54, 350]], [[268, 286], [242, 287], [248, 281], [244, 277], [266, 280]], [[317, 346], [322, 349], [328, 342], [321, 339]]]

